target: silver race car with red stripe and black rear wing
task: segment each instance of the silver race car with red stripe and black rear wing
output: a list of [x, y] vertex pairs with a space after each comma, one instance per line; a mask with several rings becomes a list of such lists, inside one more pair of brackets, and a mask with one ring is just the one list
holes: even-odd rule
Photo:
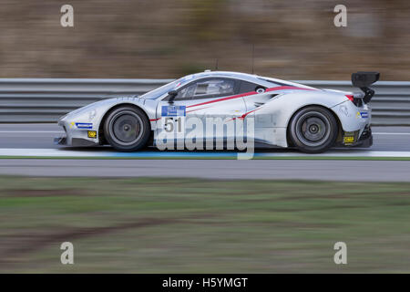
[[[205, 125], [210, 119], [218, 119], [229, 128], [235, 121], [252, 119], [257, 147], [295, 147], [312, 153], [335, 145], [370, 147], [368, 103], [374, 91], [367, 87], [379, 74], [358, 72], [352, 78], [364, 93], [206, 71], [179, 78], [142, 96], [104, 99], [74, 110], [58, 121], [66, 136], [55, 141], [76, 147], [109, 144], [118, 151], [138, 151], [158, 145], [159, 137], [165, 137], [161, 136], [164, 130], [172, 132], [166, 135], [168, 140], [187, 141], [195, 128], [192, 120]], [[212, 141], [232, 138], [226, 130], [202, 129], [196, 129], [195, 137]]]

